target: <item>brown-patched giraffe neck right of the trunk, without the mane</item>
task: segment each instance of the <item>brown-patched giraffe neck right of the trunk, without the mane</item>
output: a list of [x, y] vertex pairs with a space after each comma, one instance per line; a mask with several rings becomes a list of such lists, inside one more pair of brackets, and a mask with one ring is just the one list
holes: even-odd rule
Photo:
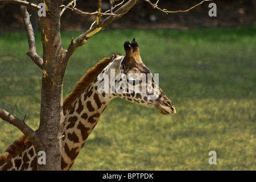
[[64, 111], [65, 126], [61, 151], [61, 169], [68, 170], [75, 162], [100, 115], [108, 106], [113, 94], [98, 93], [97, 78]]

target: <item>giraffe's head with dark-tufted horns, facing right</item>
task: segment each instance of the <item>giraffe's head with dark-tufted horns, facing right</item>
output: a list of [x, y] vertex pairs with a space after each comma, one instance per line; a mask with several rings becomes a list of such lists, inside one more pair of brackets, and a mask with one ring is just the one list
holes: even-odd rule
[[176, 114], [174, 105], [157, 84], [158, 74], [154, 78], [143, 64], [135, 39], [131, 43], [125, 42], [124, 48], [126, 55], [117, 56], [106, 70], [109, 73], [109, 88], [113, 96], [153, 107], [161, 114]]

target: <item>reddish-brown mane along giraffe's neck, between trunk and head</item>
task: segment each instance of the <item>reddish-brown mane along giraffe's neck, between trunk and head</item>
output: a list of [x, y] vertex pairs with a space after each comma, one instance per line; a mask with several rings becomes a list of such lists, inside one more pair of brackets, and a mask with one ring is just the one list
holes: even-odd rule
[[84, 92], [84, 90], [89, 86], [89, 84], [102, 72], [106, 66], [112, 62], [118, 55], [112, 55], [111, 57], [105, 57], [100, 60], [93, 68], [89, 69], [84, 76], [80, 78], [77, 82], [73, 91], [68, 95], [67, 98], [63, 101], [63, 111], [67, 110], [76, 98]]

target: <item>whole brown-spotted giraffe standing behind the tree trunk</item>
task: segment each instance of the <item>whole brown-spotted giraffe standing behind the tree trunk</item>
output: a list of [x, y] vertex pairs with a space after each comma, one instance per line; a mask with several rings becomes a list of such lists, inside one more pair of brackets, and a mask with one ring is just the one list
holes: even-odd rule
[[[124, 44], [125, 56], [112, 55], [105, 57], [99, 61], [92, 69], [87, 71], [85, 75], [77, 82], [72, 93], [65, 98], [63, 102], [63, 111], [65, 116], [65, 124], [63, 130], [62, 147], [61, 147], [61, 169], [69, 170], [75, 159], [79, 155], [82, 147], [88, 139], [90, 133], [96, 126], [98, 119], [103, 111], [108, 106], [109, 102], [115, 98], [120, 97], [135, 104], [152, 107], [159, 110], [160, 114], [176, 114], [176, 110], [172, 102], [163, 93], [159, 86], [156, 86], [154, 77], [152, 77], [152, 88], [158, 95], [155, 99], [149, 99], [149, 92], [101, 92], [99, 85], [104, 82], [109, 86], [110, 91], [111, 73], [114, 71], [114, 76], [119, 73], [129, 75], [129, 73], [137, 73], [139, 75], [147, 74], [152, 76], [150, 70], [143, 64], [141, 56], [139, 55], [139, 46], [135, 38], [131, 43], [128, 41]], [[104, 75], [104, 78], [100, 76]], [[106, 77], [108, 76], [108, 77]], [[125, 77], [122, 77], [125, 79]], [[119, 80], [122, 80], [120, 78]], [[139, 83], [142, 83], [142, 77], [139, 78]], [[118, 79], [114, 80], [117, 85]], [[135, 81], [124, 81], [127, 85], [126, 91], [134, 88]], [[119, 89], [122, 89], [122, 86]], [[130, 87], [129, 87], [130, 86]], [[107, 86], [106, 86], [107, 87]], [[115, 86], [117, 88], [117, 86]], [[104, 85], [104, 89], [105, 85]], [[139, 86], [142, 89], [142, 86]], [[152, 94], [151, 94], [152, 95]], [[8, 154], [0, 156], [0, 170], [36, 170], [37, 156], [34, 146], [30, 139], [22, 136], [7, 148]]]

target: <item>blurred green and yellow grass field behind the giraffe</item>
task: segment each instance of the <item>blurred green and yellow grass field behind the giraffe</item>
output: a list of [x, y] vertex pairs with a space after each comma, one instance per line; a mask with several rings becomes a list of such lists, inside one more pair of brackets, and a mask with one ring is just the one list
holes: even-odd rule
[[[72, 36], [63, 32], [67, 48]], [[97, 60], [125, 54], [136, 37], [144, 64], [177, 114], [114, 99], [72, 170], [256, 170], [256, 26], [200, 30], [109, 30], [69, 60], [64, 97]], [[36, 34], [42, 55], [40, 34]], [[39, 125], [42, 72], [26, 55], [26, 32], [0, 34], [0, 107]], [[22, 133], [0, 119], [0, 153]], [[217, 164], [210, 165], [209, 151]]]

